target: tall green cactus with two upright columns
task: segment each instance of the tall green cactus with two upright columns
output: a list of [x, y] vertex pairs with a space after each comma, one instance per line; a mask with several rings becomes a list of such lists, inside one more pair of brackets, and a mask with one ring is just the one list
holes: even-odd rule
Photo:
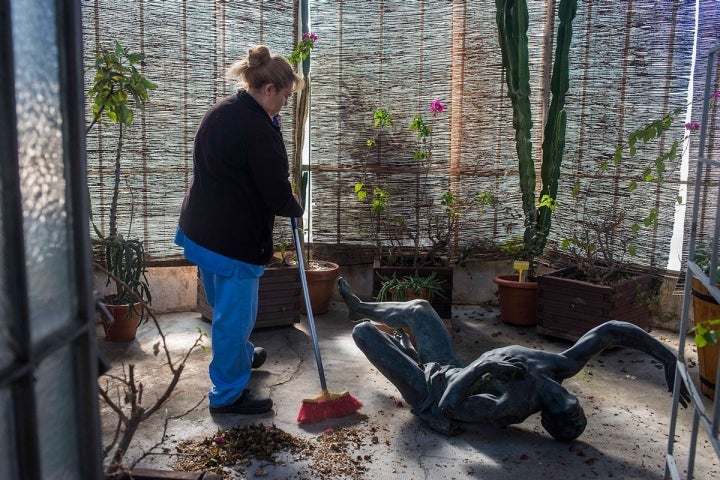
[[518, 172], [525, 214], [524, 252], [530, 261], [530, 274], [535, 271], [536, 258], [542, 254], [550, 233], [552, 211], [560, 177], [560, 164], [565, 149], [565, 94], [569, 84], [569, 55], [572, 21], [577, 0], [560, 0], [555, 57], [550, 81], [552, 100], [545, 123], [540, 178], [542, 189], [535, 201], [535, 162], [532, 155], [532, 112], [530, 110], [530, 67], [527, 30], [529, 23], [525, 0], [495, 0], [498, 39], [505, 67], [508, 97], [513, 107], [513, 128], [518, 154]]

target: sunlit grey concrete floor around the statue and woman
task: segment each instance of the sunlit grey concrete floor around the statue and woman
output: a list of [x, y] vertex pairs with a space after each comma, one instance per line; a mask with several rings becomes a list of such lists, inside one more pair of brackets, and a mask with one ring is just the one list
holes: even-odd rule
[[[159, 317], [173, 351], [180, 354], [192, 345], [198, 328], [209, 334], [209, 325], [195, 312]], [[365, 466], [368, 479], [577, 479], [663, 478], [671, 394], [664, 384], [662, 369], [650, 357], [635, 351], [615, 349], [592, 360], [564, 386], [581, 401], [588, 418], [584, 434], [572, 443], [553, 440], [540, 425], [539, 415], [521, 425], [499, 429], [478, 427], [458, 436], [444, 437], [415, 417], [395, 389], [365, 359], [353, 343], [353, 323], [347, 320], [344, 304], [333, 304], [330, 312], [315, 316], [320, 347], [331, 391], [349, 390], [364, 406], [360, 415], [298, 425], [296, 416], [302, 399], [320, 393], [312, 341], [307, 319], [298, 324], [258, 330], [255, 345], [268, 351], [267, 363], [253, 373], [250, 387], [275, 401], [273, 412], [259, 416], [210, 415], [207, 400], [207, 365], [210, 349], [194, 352], [180, 383], [162, 412], [143, 423], [128, 452], [130, 463], [162, 440], [172, 453], [183, 440], [202, 440], [218, 429], [236, 425], [274, 424], [293, 436], [311, 439], [328, 428], [342, 425], [371, 428], [376, 443], [365, 442], [358, 453], [371, 461]], [[480, 352], [496, 346], [520, 344], [548, 351], [561, 351], [568, 343], [543, 337], [532, 327], [509, 326], [498, 320], [496, 309], [487, 306], [453, 307], [453, 339], [460, 357], [469, 362]], [[676, 334], [652, 334], [676, 349]], [[100, 335], [101, 336], [101, 335]], [[102, 350], [115, 371], [134, 363], [145, 387], [149, 404], [167, 378], [163, 359], [153, 355], [158, 335], [151, 323], [142, 325], [138, 338], [126, 345], [101, 339]], [[209, 347], [208, 339], [205, 345]], [[688, 352], [688, 358], [695, 358]], [[697, 370], [695, 368], [694, 370]], [[696, 373], [696, 372], [695, 372]], [[195, 407], [195, 408], [194, 408]], [[102, 414], [104, 436], [112, 432], [112, 416]], [[687, 464], [687, 432], [690, 412], [681, 412], [679, 442], [675, 454]], [[144, 457], [138, 467], [171, 470], [171, 454]], [[712, 447], [702, 437], [698, 445], [695, 478], [720, 478], [720, 465]], [[255, 465], [247, 477], [272, 479], [313, 479], [303, 462]], [[684, 477], [683, 477], [684, 478]]]

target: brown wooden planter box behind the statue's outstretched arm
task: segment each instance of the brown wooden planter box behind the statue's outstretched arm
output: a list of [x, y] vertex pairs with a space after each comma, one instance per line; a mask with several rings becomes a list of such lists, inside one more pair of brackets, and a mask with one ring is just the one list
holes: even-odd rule
[[569, 267], [538, 277], [539, 333], [575, 341], [608, 320], [624, 320], [650, 330], [650, 275], [595, 285], [566, 278], [575, 272], [577, 267]]

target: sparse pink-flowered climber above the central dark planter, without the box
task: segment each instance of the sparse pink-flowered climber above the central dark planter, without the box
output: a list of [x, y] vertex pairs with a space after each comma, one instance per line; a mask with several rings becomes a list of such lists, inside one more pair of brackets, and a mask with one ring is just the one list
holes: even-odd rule
[[[432, 101], [431, 118], [434, 120], [446, 109], [440, 100]], [[433, 198], [427, 188], [433, 157], [431, 124], [422, 114], [415, 114], [408, 122], [407, 131], [414, 132], [408, 139], [407, 131], [396, 128], [390, 111], [378, 107], [373, 112], [372, 128], [373, 134], [365, 142], [363, 180], [353, 188], [357, 200], [370, 207], [376, 262], [381, 266], [408, 267], [446, 264], [461, 214], [470, 205], [463, 204], [460, 196], [449, 189]], [[410, 154], [406, 151], [409, 145]], [[391, 190], [380, 175], [384, 164], [391, 162], [401, 162], [403, 170], [413, 178], [414, 185], [407, 195], [412, 218], [394, 211], [395, 202], [407, 202], [400, 198], [407, 193], [407, 185]], [[375, 167], [373, 172], [371, 167]]]

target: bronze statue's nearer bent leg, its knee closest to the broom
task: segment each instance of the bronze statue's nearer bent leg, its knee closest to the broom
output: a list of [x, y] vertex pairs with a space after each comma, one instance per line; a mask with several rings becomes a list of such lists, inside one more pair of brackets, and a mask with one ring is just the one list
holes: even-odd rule
[[353, 340], [409, 405], [415, 406], [425, 398], [427, 386], [423, 370], [387, 334], [372, 323], [363, 322], [353, 329]]

